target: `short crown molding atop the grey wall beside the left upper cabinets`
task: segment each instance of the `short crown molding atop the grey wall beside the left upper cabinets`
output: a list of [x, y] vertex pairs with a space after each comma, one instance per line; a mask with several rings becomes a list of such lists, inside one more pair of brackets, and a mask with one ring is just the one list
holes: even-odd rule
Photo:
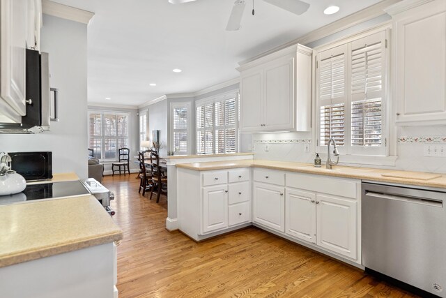
[[66, 6], [49, 0], [42, 1], [42, 11], [45, 13], [45, 15], [61, 17], [65, 20], [75, 21], [87, 25], [89, 24], [93, 15], [95, 15], [91, 11]]

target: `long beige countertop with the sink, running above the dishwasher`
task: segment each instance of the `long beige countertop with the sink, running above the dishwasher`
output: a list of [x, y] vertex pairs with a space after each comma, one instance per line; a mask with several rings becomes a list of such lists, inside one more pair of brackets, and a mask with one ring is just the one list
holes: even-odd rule
[[[284, 170], [290, 172], [301, 172], [307, 174], [321, 174], [332, 177], [344, 177], [352, 179], [361, 179], [369, 181], [390, 182], [395, 184], [408, 184], [416, 186], [428, 186], [437, 188], [446, 188], [446, 175], [439, 174], [440, 177], [425, 180], [426, 173], [423, 172], [405, 172], [408, 177], [415, 179], [406, 179], [401, 177], [384, 177], [383, 174], [392, 174], [395, 170], [383, 170], [371, 167], [346, 167], [334, 165], [332, 170], [322, 167], [314, 167], [311, 163], [294, 163], [289, 161], [264, 161], [264, 160], [245, 160], [245, 161], [215, 161], [206, 163], [183, 163], [176, 167], [189, 170], [208, 171], [224, 170], [237, 167], [260, 167], [270, 170]], [[419, 179], [417, 179], [417, 177]]]

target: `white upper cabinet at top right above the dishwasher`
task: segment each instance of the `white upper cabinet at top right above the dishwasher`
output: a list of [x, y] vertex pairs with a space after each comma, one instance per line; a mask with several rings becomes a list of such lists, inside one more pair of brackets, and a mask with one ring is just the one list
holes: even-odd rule
[[398, 125], [446, 124], [446, 1], [425, 2], [401, 1], [387, 9], [394, 24]]

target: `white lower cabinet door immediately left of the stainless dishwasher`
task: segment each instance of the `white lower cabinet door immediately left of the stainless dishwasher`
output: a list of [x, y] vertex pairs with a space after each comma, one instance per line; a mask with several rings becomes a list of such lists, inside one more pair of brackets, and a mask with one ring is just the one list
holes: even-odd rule
[[357, 259], [356, 202], [316, 196], [317, 244], [330, 251]]

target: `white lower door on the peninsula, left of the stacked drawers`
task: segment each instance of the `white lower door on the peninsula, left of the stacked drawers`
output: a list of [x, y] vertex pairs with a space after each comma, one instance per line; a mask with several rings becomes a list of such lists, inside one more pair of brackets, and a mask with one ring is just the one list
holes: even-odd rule
[[228, 226], [228, 187], [203, 188], [203, 233]]

